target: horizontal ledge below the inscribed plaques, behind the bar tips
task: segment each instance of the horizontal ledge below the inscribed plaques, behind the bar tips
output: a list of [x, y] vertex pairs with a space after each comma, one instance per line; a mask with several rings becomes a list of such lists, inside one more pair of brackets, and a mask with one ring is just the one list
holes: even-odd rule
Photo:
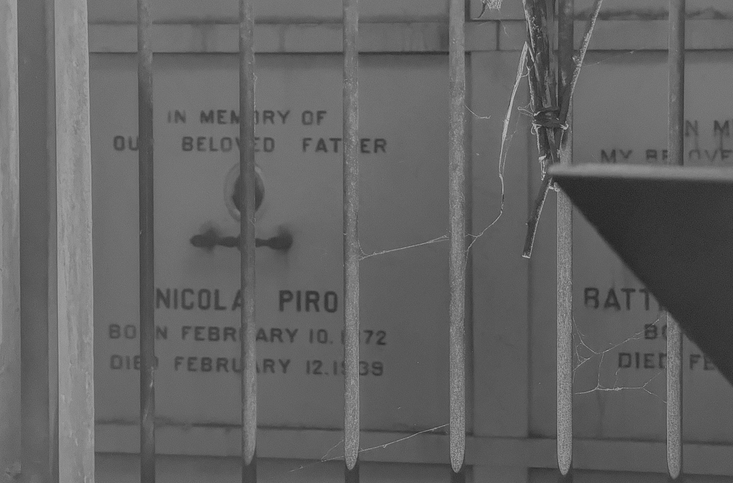
[[[446, 431], [441, 427], [438, 431]], [[158, 454], [239, 457], [241, 429], [235, 425], [196, 426], [190, 424], [159, 426], [156, 429]], [[405, 439], [410, 436], [409, 439]], [[341, 441], [343, 431], [315, 429], [262, 428], [257, 433], [257, 456], [320, 460]], [[98, 422], [97, 452], [138, 452], [137, 423]], [[386, 447], [385, 443], [394, 442]], [[448, 435], [425, 432], [362, 431], [359, 454], [362, 461], [393, 463], [449, 463]], [[573, 440], [572, 465], [575, 470], [641, 471], [666, 473], [665, 441]], [[685, 443], [685, 472], [733, 476], [733, 443]], [[555, 437], [489, 438], [466, 436], [465, 465], [557, 468]]]

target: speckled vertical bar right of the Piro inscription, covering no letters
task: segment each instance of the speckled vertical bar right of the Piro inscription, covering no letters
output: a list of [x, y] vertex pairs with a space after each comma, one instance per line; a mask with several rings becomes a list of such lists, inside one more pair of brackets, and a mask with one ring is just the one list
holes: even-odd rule
[[449, 217], [450, 217], [450, 459], [455, 473], [465, 459], [465, 2], [449, 9]]

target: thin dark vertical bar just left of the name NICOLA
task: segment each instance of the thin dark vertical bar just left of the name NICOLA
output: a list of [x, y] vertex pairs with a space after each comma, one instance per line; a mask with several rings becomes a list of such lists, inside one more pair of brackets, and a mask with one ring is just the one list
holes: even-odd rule
[[140, 481], [155, 483], [155, 252], [153, 246], [152, 18], [138, 0], [140, 228]]

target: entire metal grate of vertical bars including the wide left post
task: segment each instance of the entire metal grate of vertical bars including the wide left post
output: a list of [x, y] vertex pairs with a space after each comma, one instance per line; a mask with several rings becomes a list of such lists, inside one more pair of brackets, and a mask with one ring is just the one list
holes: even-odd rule
[[[240, 312], [242, 481], [257, 481], [254, 238], [254, 17], [240, 0]], [[559, 1], [559, 50], [573, 45], [573, 1]], [[140, 228], [141, 482], [155, 482], [155, 323], [153, 245], [153, 100], [150, 1], [138, 0]], [[14, 11], [15, 1], [3, 8]], [[4, 10], [3, 10], [4, 11]], [[18, 152], [23, 350], [23, 473], [38, 482], [92, 481], [91, 155], [86, 1], [18, 3]], [[75, 15], [78, 14], [78, 15]], [[12, 15], [10, 15], [12, 17]], [[465, 2], [449, 10], [449, 282], [450, 434], [452, 481], [465, 480]], [[54, 34], [54, 31], [56, 34]], [[15, 34], [15, 32], [14, 32]], [[41, 42], [38, 40], [42, 39]], [[69, 39], [76, 40], [71, 42]], [[63, 42], [62, 40], [67, 40]], [[682, 164], [685, 0], [669, 1], [669, 162]], [[358, 0], [343, 0], [343, 172], [345, 481], [359, 480]], [[562, 55], [561, 58], [570, 56]], [[562, 65], [560, 89], [572, 65]], [[79, 88], [81, 86], [81, 88]], [[5, 93], [3, 94], [5, 95]], [[56, 109], [59, 112], [56, 112]], [[249, 113], [249, 115], [245, 115]], [[572, 132], [572, 130], [570, 131]], [[37, 139], [46, 143], [37, 143]], [[572, 162], [572, 137], [561, 149]], [[3, 161], [5, 162], [5, 161]], [[11, 161], [12, 162], [12, 161]], [[17, 166], [16, 166], [17, 167]], [[11, 170], [12, 171], [12, 170]], [[18, 176], [18, 171], [15, 171]], [[29, 198], [32, 193], [34, 198]], [[38, 193], [42, 202], [38, 203]], [[572, 478], [572, 206], [558, 198], [557, 457]], [[37, 228], [40, 226], [40, 230]], [[51, 267], [51, 269], [49, 269]], [[56, 300], [56, 294], [59, 299]], [[80, 295], [81, 294], [81, 295]], [[75, 299], [73, 304], [67, 303]], [[56, 307], [57, 311], [52, 310]], [[53, 314], [53, 315], [51, 315]], [[58, 320], [56, 320], [58, 317]], [[682, 334], [669, 315], [667, 461], [682, 479]], [[57, 322], [57, 325], [56, 325]], [[55, 331], [59, 332], [56, 333]], [[54, 337], [55, 336], [55, 337]], [[38, 343], [38, 341], [46, 341]], [[58, 345], [54, 342], [58, 341]], [[62, 341], [66, 343], [62, 343]], [[78, 343], [71, 343], [78, 341]], [[38, 362], [41, 362], [40, 364]], [[54, 374], [54, 370], [58, 370]], [[56, 380], [58, 377], [58, 380]], [[49, 389], [51, 388], [51, 389]], [[56, 394], [54, 394], [56, 391]], [[56, 398], [57, 395], [62, 395]], [[41, 416], [40, 416], [41, 415]], [[60, 428], [60, 430], [59, 430]], [[56, 454], [58, 448], [58, 454]]]

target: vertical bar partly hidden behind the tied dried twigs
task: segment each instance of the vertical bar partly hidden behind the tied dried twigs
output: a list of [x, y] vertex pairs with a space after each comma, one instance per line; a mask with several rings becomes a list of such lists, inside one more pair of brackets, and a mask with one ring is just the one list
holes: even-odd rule
[[[570, 96], [575, 62], [572, 60], [573, 0], [558, 5], [559, 97]], [[572, 100], [570, 100], [572, 109]], [[561, 164], [572, 163], [572, 111], [568, 129], [558, 132]], [[557, 190], [557, 463], [561, 476], [572, 468], [572, 203]]]

